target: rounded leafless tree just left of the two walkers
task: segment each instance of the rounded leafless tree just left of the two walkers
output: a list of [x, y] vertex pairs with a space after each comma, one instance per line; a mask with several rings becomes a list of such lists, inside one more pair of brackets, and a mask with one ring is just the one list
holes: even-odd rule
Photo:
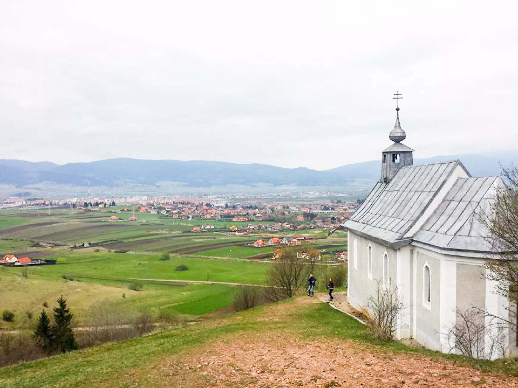
[[297, 255], [297, 249], [286, 249], [268, 270], [269, 291], [275, 294], [273, 297], [268, 295], [268, 299], [293, 297], [305, 285], [309, 269], [308, 260], [303, 255]]

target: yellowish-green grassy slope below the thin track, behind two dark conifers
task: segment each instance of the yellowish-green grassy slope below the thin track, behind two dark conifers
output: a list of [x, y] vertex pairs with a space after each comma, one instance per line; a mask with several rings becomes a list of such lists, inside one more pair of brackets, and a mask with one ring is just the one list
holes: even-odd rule
[[[23, 278], [13, 271], [2, 271], [0, 311], [15, 312], [15, 321], [0, 321], [0, 327], [31, 327], [41, 310], [52, 314], [52, 308], [60, 295], [67, 299], [78, 326], [88, 326], [91, 320], [89, 310], [101, 304], [108, 310], [124, 310], [127, 317], [135, 317], [142, 312], [149, 312], [155, 317], [163, 312], [172, 312], [187, 318], [196, 318], [226, 307], [231, 303], [234, 288], [226, 285], [157, 284], [143, 281], [143, 290], [137, 292], [128, 289], [130, 281], [90, 280], [69, 281], [34, 274]], [[45, 307], [44, 303], [47, 303], [48, 307]], [[31, 319], [28, 318], [27, 312], [33, 313]]]

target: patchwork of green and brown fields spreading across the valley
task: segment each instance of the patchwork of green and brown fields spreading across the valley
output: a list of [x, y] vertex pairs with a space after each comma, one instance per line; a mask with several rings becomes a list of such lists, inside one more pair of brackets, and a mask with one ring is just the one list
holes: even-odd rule
[[[16, 314], [15, 322], [4, 322], [4, 327], [30, 324], [24, 318], [28, 313], [37, 313], [44, 302], [52, 306], [61, 294], [69, 299], [78, 324], [83, 324], [88, 319], [89, 309], [100, 303], [132, 314], [146, 310], [154, 316], [172, 312], [198, 317], [228, 306], [232, 299], [234, 286], [231, 285], [163, 280], [265, 283], [269, 264], [241, 259], [275, 248], [247, 246], [258, 237], [236, 237], [223, 229], [246, 225], [246, 222], [174, 220], [150, 213], [135, 213], [139, 222], [128, 222], [133, 212], [114, 213], [119, 208], [105, 210], [110, 212], [52, 209], [48, 215], [44, 209], [0, 211], [0, 255], [23, 253], [32, 258], [57, 260], [55, 265], [28, 267], [27, 278], [21, 276], [22, 268], [2, 267], [0, 287], [5, 296], [0, 299], [0, 310], [9, 309]], [[108, 222], [111, 215], [125, 221]], [[193, 226], [208, 223], [219, 229], [190, 232]], [[277, 235], [289, 233], [293, 232], [283, 231]], [[261, 235], [261, 238], [269, 236]], [[68, 248], [87, 242], [93, 246]], [[39, 243], [45, 244], [38, 246]], [[171, 253], [170, 260], [159, 260], [164, 251]], [[189, 270], [176, 271], [181, 264]], [[129, 290], [132, 282], [141, 282], [143, 290]]]

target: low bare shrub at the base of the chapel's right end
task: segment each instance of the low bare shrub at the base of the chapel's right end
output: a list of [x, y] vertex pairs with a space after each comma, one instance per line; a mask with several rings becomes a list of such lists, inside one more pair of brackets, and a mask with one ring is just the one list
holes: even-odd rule
[[455, 325], [447, 328], [444, 335], [450, 344], [449, 352], [457, 351], [473, 359], [491, 359], [493, 355], [506, 355], [506, 332], [509, 326], [503, 322], [490, 320], [479, 308], [455, 310]]

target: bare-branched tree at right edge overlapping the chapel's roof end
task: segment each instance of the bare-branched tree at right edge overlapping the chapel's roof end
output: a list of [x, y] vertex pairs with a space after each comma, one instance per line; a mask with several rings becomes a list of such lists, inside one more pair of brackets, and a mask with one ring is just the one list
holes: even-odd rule
[[[498, 255], [485, 260], [490, 270], [487, 279], [495, 280], [496, 292], [512, 304], [518, 302], [518, 169], [502, 166], [502, 177], [509, 187], [497, 189], [489, 214], [482, 213], [479, 220], [488, 229], [487, 241]], [[509, 309], [506, 322], [516, 327], [515, 309]]]

